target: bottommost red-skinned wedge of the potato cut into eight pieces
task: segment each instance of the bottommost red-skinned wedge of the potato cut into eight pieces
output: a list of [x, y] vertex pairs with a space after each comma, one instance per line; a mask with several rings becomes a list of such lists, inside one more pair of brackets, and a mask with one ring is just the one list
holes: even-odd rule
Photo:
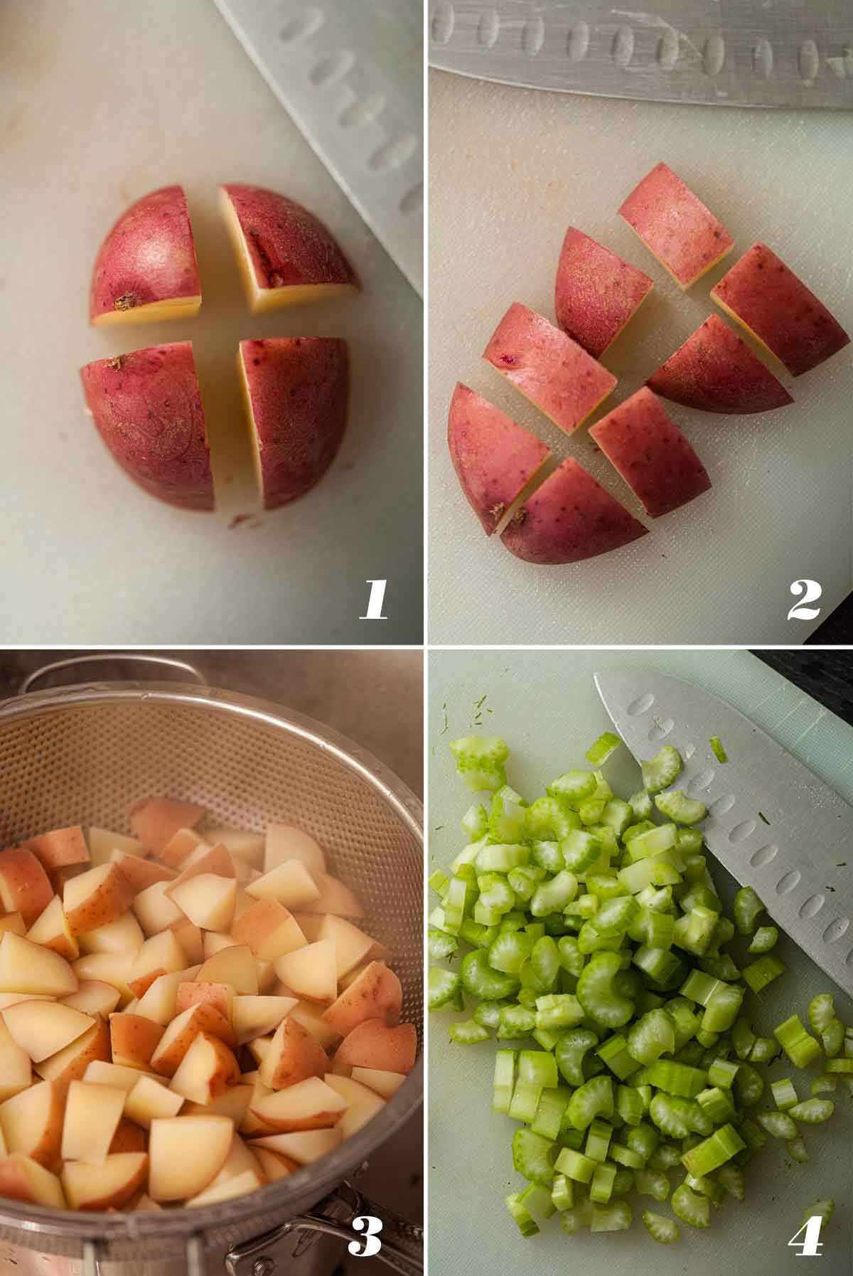
[[645, 536], [620, 503], [571, 457], [533, 493], [501, 540], [525, 563], [580, 563]]

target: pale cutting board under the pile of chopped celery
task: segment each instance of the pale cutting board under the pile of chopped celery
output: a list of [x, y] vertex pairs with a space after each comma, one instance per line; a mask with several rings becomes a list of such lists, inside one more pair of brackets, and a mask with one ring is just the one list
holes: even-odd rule
[[[821, 708], [750, 652], [520, 652], [442, 651], [430, 653], [430, 856], [441, 868], [464, 845], [458, 820], [470, 794], [454, 773], [446, 745], [472, 730], [501, 735], [510, 745], [507, 780], [529, 800], [570, 767], [587, 766], [584, 752], [612, 727], [593, 684], [606, 669], [657, 670], [686, 678], [724, 695], [774, 735], [826, 782], [853, 801], [853, 729]], [[486, 699], [483, 699], [486, 697]], [[482, 701], [479, 711], [477, 702]], [[490, 712], [491, 709], [491, 712]], [[479, 713], [479, 725], [476, 722]], [[839, 764], [839, 753], [844, 759]], [[736, 759], [731, 759], [736, 764]], [[606, 766], [617, 792], [640, 787], [639, 767], [620, 749]], [[439, 827], [441, 826], [441, 827]], [[843, 856], [842, 856], [843, 857]], [[852, 857], [853, 863], [853, 857]], [[733, 879], [713, 857], [709, 868], [727, 905]], [[852, 869], [853, 872], [853, 869]], [[431, 896], [435, 902], [435, 896]], [[430, 905], [432, 907], [432, 903]], [[756, 1031], [769, 1036], [775, 1023], [805, 1014], [820, 990], [835, 994], [836, 1011], [853, 1022], [853, 1003], [787, 937], [776, 949], [788, 974], [762, 995], [762, 1008], [747, 994]], [[448, 1025], [459, 1016], [430, 1016], [430, 1266], [441, 1276], [518, 1276], [519, 1272], [583, 1272], [583, 1276], [802, 1276], [798, 1250], [787, 1242], [803, 1211], [821, 1197], [835, 1198], [831, 1224], [824, 1229], [819, 1276], [849, 1276], [853, 1254], [853, 1100], [843, 1086], [836, 1110], [821, 1127], [803, 1128], [812, 1160], [788, 1164], [782, 1145], [768, 1139], [746, 1166], [743, 1203], [727, 1202], [713, 1212], [708, 1231], [681, 1224], [676, 1245], [658, 1245], [646, 1235], [641, 1210], [671, 1217], [668, 1202], [632, 1198], [629, 1231], [566, 1236], [556, 1219], [541, 1235], [523, 1240], [504, 1207], [504, 1197], [524, 1180], [513, 1170], [510, 1142], [515, 1122], [490, 1111], [495, 1041], [451, 1045]], [[770, 1079], [791, 1074], [801, 1097], [808, 1097], [807, 1073], [776, 1063]], [[773, 1108], [769, 1086], [756, 1110]], [[771, 1146], [774, 1145], [774, 1146]], [[680, 1175], [673, 1173], [676, 1185]], [[639, 1205], [639, 1208], [638, 1208]], [[473, 1230], [472, 1230], [473, 1229]]]

